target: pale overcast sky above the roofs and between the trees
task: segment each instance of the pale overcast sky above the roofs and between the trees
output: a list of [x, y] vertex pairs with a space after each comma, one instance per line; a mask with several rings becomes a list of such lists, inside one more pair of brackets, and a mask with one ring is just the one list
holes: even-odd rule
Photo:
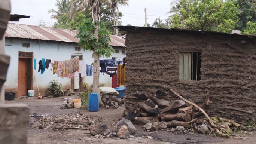
[[[168, 17], [171, 2], [176, 0], [130, 0], [129, 6], [119, 7], [123, 13], [122, 25], [143, 26], [144, 8], [147, 8], [147, 22], [151, 25], [158, 16], [161, 19]], [[38, 25], [42, 19], [48, 26], [52, 26], [55, 19], [51, 19], [49, 9], [57, 9], [56, 0], [11, 0], [12, 14], [29, 15], [31, 18], [20, 19], [19, 24]]]

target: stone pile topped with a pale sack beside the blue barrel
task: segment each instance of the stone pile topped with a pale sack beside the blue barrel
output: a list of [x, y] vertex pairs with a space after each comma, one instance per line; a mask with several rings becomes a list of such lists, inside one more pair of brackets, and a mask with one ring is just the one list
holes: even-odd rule
[[111, 87], [100, 87], [101, 101], [104, 103], [105, 108], [118, 108], [120, 105], [125, 103], [124, 98], [118, 98], [118, 91]]

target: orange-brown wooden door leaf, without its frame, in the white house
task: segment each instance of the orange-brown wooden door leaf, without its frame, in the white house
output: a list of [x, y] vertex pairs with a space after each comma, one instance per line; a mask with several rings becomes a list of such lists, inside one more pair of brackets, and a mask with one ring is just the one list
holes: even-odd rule
[[19, 58], [18, 96], [27, 95], [27, 62]]

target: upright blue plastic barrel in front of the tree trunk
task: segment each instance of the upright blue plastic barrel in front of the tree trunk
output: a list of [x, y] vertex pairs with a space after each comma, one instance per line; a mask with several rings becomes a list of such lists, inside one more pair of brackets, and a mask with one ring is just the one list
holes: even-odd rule
[[97, 93], [92, 92], [89, 94], [88, 110], [99, 111], [99, 99]]

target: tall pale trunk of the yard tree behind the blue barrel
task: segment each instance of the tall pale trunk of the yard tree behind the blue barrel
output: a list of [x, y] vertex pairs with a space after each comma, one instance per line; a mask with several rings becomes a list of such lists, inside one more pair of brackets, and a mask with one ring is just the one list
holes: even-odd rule
[[[96, 3], [97, 2], [95, 1], [94, 4], [96, 6], [99, 6]], [[100, 9], [100, 7], [98, 7], [97, 9]], [[96, 28], [93, 31], [93, 34], [97, 38], [97, 42], [98, 42], [99, 41], [99, 26], [97, 24], [97, 22], [99, 20], [99, 17], [98, 17], [99, 12], [98, 12], [98, 10], [94, 10], [92, 15], [93, 15], [94, 22], [96, 24]], [[100, 98], [100, 56], [99, 56], [99, 53], [95, 52], [96, 48], [97, 47], [95, 47], [93, 49], [93, 89], [92, 90], [93, 90], [93, 92], [98, 94], [99, 107], [103, 107], [104, 104], [103, 104], [103, 102], [101, 101], [101, 98]]]

